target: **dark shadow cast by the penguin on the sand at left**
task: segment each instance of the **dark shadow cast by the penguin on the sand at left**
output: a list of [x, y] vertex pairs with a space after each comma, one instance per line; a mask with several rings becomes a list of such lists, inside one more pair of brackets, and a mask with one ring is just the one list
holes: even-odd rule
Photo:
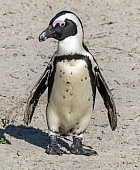
[[[9, 134], [16, 139], [24, 140], [43, 149], [46, 149], [49, 145], [48, 133], [34, 127], [8, 125], [5, 129], [0, 129], [0, 138], [4, 137], [4, 134]], [[66, 150], [70, 150], [69, 144], [66, 141], [59, 138], [58, 143]]]

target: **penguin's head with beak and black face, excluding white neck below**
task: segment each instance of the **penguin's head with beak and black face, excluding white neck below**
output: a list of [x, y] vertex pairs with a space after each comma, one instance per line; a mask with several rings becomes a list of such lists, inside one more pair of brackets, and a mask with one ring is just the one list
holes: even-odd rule
[[51, 19], [49, 26], [39, 35], [39, 41], [54, 38], [63, 41], [70, 36], [81, 34], [83, 36], [82, 23], [80, 19], [70, 11], [61, 11]]

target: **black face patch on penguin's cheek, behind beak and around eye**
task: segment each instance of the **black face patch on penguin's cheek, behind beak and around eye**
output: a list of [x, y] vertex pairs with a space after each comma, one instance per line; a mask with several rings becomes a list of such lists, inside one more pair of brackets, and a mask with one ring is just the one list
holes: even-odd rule
[[75, 22], [66, 19], [64, 23], [65, 24], [63, 25], [63, 27], [59, 23], [55, 25], [55, 27], [53, 28], [55, 33], [52, 34], [51, 38], [54, 38], [58, 41], [62, 41], [67, 37], [74, 36], [77, 34], [77, 26]]

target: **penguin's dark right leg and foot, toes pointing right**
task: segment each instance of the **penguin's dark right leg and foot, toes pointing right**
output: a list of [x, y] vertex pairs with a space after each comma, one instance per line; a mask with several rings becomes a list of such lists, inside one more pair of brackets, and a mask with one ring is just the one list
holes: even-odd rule
[[91, 149], [84, 149], [82, 145], [82, 138], [73, 137], [73, 144], [70, 149], [71, 154], [75, 155], [85, 155], [85, 156], [91, 156], [91, 155], [98, 155], [98, 153]]

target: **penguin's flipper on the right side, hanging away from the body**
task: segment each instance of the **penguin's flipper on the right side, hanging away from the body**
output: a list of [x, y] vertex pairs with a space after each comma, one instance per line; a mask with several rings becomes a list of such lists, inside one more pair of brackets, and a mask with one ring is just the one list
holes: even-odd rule
[[106, 84], [105, 79], [103, 78], [98, 67], [95, 67], [95, 74], [96, 74], [97, 88], [104, 100], [104, 105], [108, 110], [109, 123], [111, 129], [114, 131], [117, 127], [117, 113], [116, 113], [115, 102], [112, 93], [109, 90], [109, 87]]

